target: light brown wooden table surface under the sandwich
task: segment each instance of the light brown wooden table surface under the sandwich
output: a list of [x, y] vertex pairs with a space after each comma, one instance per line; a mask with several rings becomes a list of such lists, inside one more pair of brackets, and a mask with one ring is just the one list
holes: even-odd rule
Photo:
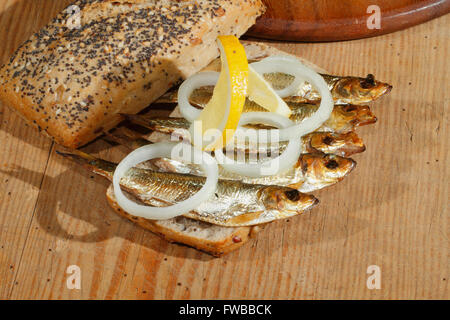
[[[2, 0], [0, 62], [68, 0]], [[169, 244], [117, 216], [107, 182], [0, 106], [2, 299], [448, 299], [450, 16], [378, 38], [273, 43], [336, 74], [393, 84], [359, 130], [367, 151], [310, 213], [271, 224], [223, 258]], [[88, 148], [108, 159], [120, 148]], [[68, 289], [68, 266], [81, 289]], [[381, 289], [366, 286], [381, 270]]]

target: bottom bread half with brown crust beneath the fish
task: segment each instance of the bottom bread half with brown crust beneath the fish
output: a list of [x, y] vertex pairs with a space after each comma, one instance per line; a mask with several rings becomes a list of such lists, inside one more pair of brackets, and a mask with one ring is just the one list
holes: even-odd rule
[[[130, 194], [128, 196], [139, 202]], [[183, 216], [169, 220], [148, 220], [132, 216], [122, 210], [116, 202], [112, 185], [106, 191], [106, 197], [109, 205], [122, 217], [150, 230], [169, 242], [185, 244], [216, 257], [239, 248], [264, 227], [221, 227]]]

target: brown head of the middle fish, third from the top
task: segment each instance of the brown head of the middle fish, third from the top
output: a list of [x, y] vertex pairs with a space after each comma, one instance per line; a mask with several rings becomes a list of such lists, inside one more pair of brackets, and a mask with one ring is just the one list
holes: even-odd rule
[[309, 147], [312, 152], [323, 152], [348, 157], [363, 152], [366, 147], [355, 132], [333, 133], [315, 132], [310, 135]]

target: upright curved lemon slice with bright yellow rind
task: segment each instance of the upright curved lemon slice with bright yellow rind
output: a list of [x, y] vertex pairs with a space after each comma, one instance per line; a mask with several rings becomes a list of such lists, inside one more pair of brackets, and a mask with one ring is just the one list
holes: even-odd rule
[[212, 151], [233, 139], [248, 91], [249, 68], [244, 47], [235, 36], [219, 36], [222, 70], [211, 100], [191, 125], [194, 146]]

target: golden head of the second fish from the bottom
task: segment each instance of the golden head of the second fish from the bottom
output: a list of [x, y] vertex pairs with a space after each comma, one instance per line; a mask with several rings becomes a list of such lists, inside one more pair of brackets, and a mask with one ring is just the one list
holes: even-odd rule
[[334, 154], [303, 154], [300, 166], [305, 176], [324, 183], [340, 181], [355, 168], [356, 162]]

